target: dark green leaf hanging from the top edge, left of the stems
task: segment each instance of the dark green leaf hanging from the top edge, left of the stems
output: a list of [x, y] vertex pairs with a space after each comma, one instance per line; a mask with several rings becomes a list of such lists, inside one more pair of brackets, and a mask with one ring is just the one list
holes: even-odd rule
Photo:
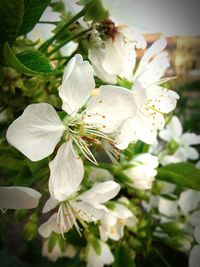
[[18, 36], [24, 35], [34, 28], [50, 2], [51, 0], [24, 0], [24, 16]]

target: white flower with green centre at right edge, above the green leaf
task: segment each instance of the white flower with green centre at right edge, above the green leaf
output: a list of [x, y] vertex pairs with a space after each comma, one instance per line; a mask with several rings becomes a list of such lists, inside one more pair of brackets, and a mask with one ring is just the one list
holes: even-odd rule
[[162, 165], [198, 159], [199, 153], [192, 145], [200, 144], [200, 135], [183, 133], [178, 117], [173, 116], [166, 128], [160, 131], [159, 136], [168, 142], [167, 148], [159, 155]]

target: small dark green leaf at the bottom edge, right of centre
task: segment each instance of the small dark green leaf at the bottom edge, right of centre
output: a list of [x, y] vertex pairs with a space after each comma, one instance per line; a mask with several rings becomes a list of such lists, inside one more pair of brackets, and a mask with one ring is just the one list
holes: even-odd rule
[[112, 267], [136, 267], [134, 259], [131, 258], [129, 251], [125, 247], [118, 247], [115, 252], [115, 261]]

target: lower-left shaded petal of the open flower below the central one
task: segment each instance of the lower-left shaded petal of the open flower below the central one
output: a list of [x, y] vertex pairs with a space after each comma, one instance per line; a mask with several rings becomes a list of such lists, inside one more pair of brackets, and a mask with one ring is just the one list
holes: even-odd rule
[[38, 232], [44, 238], [49, 237], [52, 232], [58, 234], [61, 233], [60, 227], [57, 223], [57, 212], [51, 215], [47, 222], [40, 225]]

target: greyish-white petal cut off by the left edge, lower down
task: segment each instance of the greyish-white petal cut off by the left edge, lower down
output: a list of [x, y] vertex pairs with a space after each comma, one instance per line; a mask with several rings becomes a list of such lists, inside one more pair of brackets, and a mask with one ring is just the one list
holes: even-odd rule
[[32, 209], [37, 207], [41, 194], [28, 187], [1, 186], [0, 207], [4, 209]]

